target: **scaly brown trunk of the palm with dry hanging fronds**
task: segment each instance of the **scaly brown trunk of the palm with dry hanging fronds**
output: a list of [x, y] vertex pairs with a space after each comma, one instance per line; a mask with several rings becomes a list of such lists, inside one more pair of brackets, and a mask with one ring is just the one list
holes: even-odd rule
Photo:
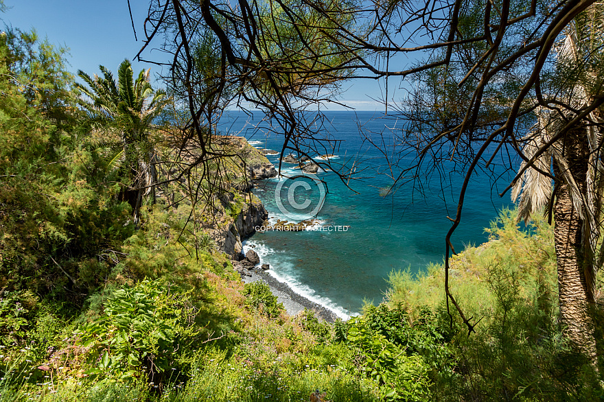
[[[588, 168], [588, 145], [585, 141], [587, 137], [583, 127], [568, 132], [561, 141], [568, 169], [583, 194]], [[563, 173], [561, 167], [555, 164], [554, 174], [563, 180], [555, 194], [554, 206], [561, 322], [574, 349], [595, 363], [596, 341], [589, 311], [594, 300], [585, 276], [585, 269], [592, 269], [592, 264], [583, 261], [583, 220], [572, 204], [572, 189], [563, 179]]]

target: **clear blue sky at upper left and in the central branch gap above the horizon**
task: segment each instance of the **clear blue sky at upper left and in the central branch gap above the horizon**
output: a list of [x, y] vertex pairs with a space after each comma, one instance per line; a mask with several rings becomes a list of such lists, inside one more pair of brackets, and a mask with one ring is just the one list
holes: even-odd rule
[[[130, 0], [138, 42], [132, 32], [126, 0], [5, 0], [9, 10], [0, 14], [0, 19], [20, 29], [35, 28], [51, 43], [69, 47], [71, 71], [82, 69], [92, 75], [99, 72], [99, 64], [116, 71], [124, 58], [132, 60], [138, 53], [143, 45], [148, 4], [146, 0]], [[161, 57], [159, 51], [147, 54], [147, 58], [153, 57]], [[153, 64], [133, 62], [135, 71], [149, 67], [152, 73], [159, 69]], [[355, 80], [342, 88], [345, 92], [339, 96], [341, 102], [356, 110], [383, 110], [384, 106], [371, 99], [382, 98], [382, 81]], [[388, 98], [392, 96], [388, 94]], [[329, 106], [329, 110], [341, 109]]]

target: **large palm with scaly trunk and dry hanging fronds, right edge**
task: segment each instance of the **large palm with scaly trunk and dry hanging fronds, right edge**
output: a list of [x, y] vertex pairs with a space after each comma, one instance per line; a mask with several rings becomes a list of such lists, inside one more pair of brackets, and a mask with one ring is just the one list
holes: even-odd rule
[[[538, 110], [537, 123], [524, 137], [524, 155], [535, 163], [528, 168], [522, 164], [526, 171], [512, 192], [513, 200], [520, 200], [519, 219], [527, 221], [546, 206], [553, 211], [561, 322], [577, 351], [592, 362], [596, 342], [590, 309], [595, 275], [604, 257], [600, 236], [604, 108], [595, 108], [566, 133], [561, 130], [604, 95], [603, 25], [604, 7], [593, 5], [575, 19], [559, 43], [557, 76], [562, 86], [557, 103]], [[548, 146], [555, 136], [560, 138]], [[538, 170], [553, 172], [555, 186]]]

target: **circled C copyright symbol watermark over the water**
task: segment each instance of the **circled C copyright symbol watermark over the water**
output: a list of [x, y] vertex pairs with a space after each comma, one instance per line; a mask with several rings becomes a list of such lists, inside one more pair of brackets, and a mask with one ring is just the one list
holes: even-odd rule
[[325, 185], [314, 174], [298, 174], [279, 181], [275, 202], [288, 219], [307, 220], [321, 211], [325, 193]]

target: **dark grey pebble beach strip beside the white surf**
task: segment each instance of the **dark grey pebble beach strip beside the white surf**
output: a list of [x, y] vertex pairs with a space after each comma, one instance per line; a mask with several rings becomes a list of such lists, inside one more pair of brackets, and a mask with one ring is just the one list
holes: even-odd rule
[[283, 307], [285, 307], [290, 316], [296, 316], [300, 311], [309, 309], [314, 312], [314, 316], [320, 321], [327, 321], [333, 324], [338, 320], [338, 316], [333, 311], [297, 294], [287, 283], [277, 281], [275, 277], [262, 270], [262, 268], [254, 267], [251, 270], [246, 270], [246, 272], [240, 272], [240, 275], [244, 283], [257, 281], [266, 283], [270, 287], [272, 294], [277, 296], [277, 302], [283, 303]]

